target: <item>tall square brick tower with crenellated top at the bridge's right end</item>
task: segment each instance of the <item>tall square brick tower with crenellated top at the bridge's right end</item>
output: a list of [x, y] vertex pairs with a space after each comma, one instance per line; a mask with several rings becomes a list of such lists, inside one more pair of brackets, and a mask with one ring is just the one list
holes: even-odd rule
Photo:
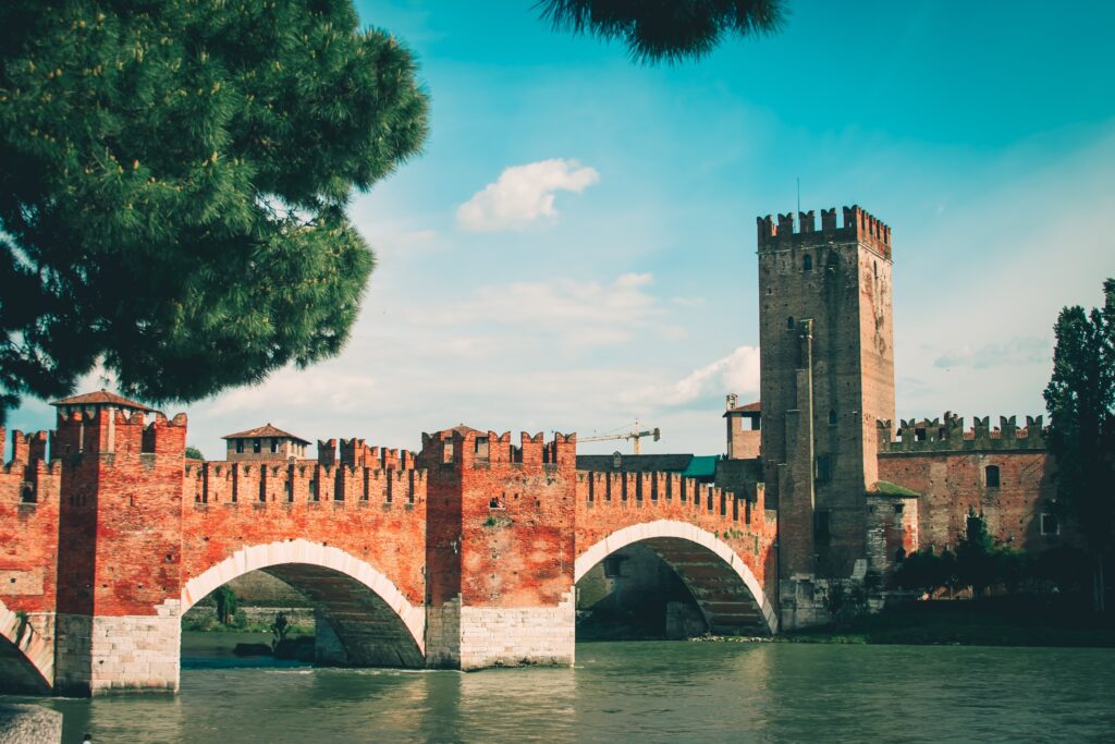
[[[865, 555], [876, 419], [894, 419], [891, 230], [859, 206], [758, 218], [763, 465], [795, 578], [847, 578]], [[789, 581], [791, 583], [787, 583]], [[787, 622], [784, 612], [783, 627]]]

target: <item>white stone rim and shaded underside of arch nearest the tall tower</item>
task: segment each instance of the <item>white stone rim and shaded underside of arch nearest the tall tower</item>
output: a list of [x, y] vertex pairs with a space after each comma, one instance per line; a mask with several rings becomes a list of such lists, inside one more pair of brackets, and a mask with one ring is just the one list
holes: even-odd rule
[[578, 555], [573, 581], [627, 545], [650, 548], [692, 592], [712, 632], [774, 632], [778, 627], [763, 584], [747, 563], [723, 540], [700, 528], [673, 520], [633, 524], [612, 532]]

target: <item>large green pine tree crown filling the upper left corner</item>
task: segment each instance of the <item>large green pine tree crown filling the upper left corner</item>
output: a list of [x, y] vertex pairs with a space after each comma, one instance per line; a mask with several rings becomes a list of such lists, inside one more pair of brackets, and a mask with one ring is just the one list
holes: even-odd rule
[[0, 2], [0, 423], [98, 361], [192, 400], [336, 355], [349, 223], [418, 153], [415, 62], [351, 0]]

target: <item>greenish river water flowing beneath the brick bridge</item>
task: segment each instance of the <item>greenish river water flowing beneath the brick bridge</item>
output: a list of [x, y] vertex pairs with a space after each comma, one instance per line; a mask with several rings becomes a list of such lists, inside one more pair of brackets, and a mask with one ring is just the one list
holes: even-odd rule
[[574, 668], [460, 674], [260, 666], [229, 653], [244, 636], [187, 636], [177, 696], [40, 699], [64, 744], [1115, 738], [1115, 649], [591, 642]]

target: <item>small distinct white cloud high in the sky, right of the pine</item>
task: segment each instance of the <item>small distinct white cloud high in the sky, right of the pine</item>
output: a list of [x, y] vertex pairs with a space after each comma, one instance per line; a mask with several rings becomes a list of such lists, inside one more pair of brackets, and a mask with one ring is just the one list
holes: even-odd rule
[[576, 161], [552, 158], [504, 170], [495, 183], [457, 207], [457, 224], [473, 232], [523, 228], [540, 219], [554, 219], [554, 192], [580, 193], [600, 174]]

